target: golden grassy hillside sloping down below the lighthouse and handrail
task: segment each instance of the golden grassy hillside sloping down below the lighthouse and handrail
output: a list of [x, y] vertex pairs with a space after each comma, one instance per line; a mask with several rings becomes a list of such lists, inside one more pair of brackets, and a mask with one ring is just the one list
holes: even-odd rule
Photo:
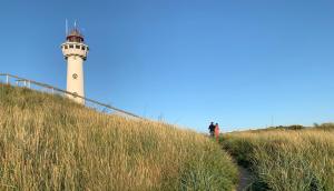
[[219, 145], [0, 84], [0, 190], [234, 190]]

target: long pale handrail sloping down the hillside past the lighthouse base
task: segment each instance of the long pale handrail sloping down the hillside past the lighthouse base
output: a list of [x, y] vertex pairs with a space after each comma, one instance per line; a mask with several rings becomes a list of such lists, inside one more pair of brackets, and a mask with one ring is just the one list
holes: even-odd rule
[[10, 77], [10, 78], [14, 78], [14, 79], [17, 79], [18, 81], [27, 81], [29, 84], [32, 83], [32, 84], [36, 84], [36, 86], [38, 86], [38, 87], [43, 87], [43, 88], [48, 88], [48, 89], [51, 89], [51, 90], [56, 90], [56, 91], [58, 91], [58, 92], [62, 92], [62, 93], [65, 93], [65, 94], [70, 94], [70, 96], [73, 96], [73, 97], [78, 97], [78, 98], [84, 99], [85, 101], [88, 101], [88, 102], [98, 104], [98, 105], [100, 105], [100, 107], [105, 107], [105, 108], [111, 109], [111, 110], [114, 110], [114, 111], [118, 111], [118, 112], [120, 112], [120, 113], [124, 113], [124, 114], [127, 114], [127, 115], [130, 115], [130, 117], [134, 117], [134, 118], [144, 119], [144, 118], [137, 115], [137, 114], [134, 114], [134, 113], [130, 113], [130, 112], [128, 112], [128, 111], [125, 111], [125, 110], [115, 108], [115, 107], [112, 107], [112, 105], [110, 105], [110, 104], [101, 103], [101, 102], [99, 102], [99, 101], [96, 101], [96, 100], [92, 100], [92, 99], [89, 99], [89, 98], [86, 98], [86, 97], [81, 97], [81, 96], [75, 94], [75, 93], [72, 93], [72, 92], [69, 92], [69, 91], [59, 89], [59, 88], [57, 88], [57, 87], [52, 87], [52, 86], [47, 84], [47, 83], [41, 83], [41, 82], [33, 81], [33, 80], [28, 80], [28, 79], [24, 79], [24, 78], [21, 78], [21, 77], [17, 77], [17, 76], [13, 76], [13, 74], [10, 74], [10, 73], [0, 73], [0, 77], [6, 77], [6, 83], [10, 83], [9, 77]]

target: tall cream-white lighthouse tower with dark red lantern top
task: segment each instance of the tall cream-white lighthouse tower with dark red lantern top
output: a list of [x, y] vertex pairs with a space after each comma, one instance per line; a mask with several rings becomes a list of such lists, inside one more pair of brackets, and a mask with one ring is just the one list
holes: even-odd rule
[[[84, 61], [87, 59], [88, 46], [84, 43], [84, 36], [75, 27], [61, 44], [61, 50], [67, 60], [67, 88], [68, 92], [85, 97]], [[69, 96], [78, 103], [85, 104], [85, 100], [76, 96]]]

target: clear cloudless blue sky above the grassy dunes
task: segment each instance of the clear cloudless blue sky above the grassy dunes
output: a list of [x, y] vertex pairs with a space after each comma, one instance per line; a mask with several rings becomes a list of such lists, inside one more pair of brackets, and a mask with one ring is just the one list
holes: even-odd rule
[[0, 72], [66, 89], [66, 18], [88, 98], [197, 131], [334, 121], [333, 0], [2, 0]]

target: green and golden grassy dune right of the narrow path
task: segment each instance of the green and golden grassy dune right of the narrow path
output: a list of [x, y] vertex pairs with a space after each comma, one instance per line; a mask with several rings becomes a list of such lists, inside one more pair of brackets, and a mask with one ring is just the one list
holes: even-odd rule
[[236, 132], [220, 142], [255, 172], [255, 190], [333, 191], [334, 131], [321, 129]]

